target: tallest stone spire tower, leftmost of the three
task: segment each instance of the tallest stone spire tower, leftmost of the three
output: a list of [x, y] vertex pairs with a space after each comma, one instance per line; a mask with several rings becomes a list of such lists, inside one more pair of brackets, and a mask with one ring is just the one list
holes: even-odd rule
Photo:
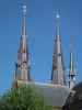
[[22, 81], [30, 81], [30, 54], [28, 45], [26, 43], [26, 6], [23, 4], [22, 13], [22, 31], [20, 48], [17, 51], [17, 63], [15, 67], [15, 79]]

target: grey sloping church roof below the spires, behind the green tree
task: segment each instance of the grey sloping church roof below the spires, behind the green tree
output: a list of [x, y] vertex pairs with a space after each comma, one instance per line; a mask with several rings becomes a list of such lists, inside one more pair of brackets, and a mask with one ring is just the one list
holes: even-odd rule
[[[23, 84], [19, 81], [19, 85]], [[42, 95], [48, 106], [62, 107], [71, 90], [65, 86], [42, 84], [42, 82], [26, 82], [27, 86], [35, 87], [36, 91]]]

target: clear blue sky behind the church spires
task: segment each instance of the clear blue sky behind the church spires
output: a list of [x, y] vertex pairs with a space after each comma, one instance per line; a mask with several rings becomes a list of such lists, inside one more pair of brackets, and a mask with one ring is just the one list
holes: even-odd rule
[[[82, 0], [27, 0], [27, 35], [32, 61], [32, 77], [49, 82], [51, 75], [55, 12], [60, 10], [62, 51], [69, 68], [69, 43], [73, 36], [73, 53], [78, 81], [82, 80]], [[22, 0], [0, 0], [0, 92], [11, 87], [14, 62], [21, 36]], [[68, 73], [66, 73], [68, 74]]]

